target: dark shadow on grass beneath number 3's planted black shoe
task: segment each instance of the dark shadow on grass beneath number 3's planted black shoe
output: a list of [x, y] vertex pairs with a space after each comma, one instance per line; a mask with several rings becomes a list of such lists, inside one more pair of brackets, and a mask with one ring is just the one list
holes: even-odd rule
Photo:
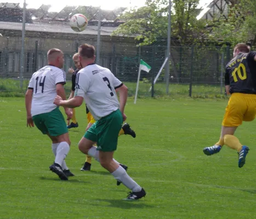
[[[148, 205], [144, 200], [117, 200], [117, 199], [96, 199], [96, 201], [105, 201], [110, 203], [107, 207], [120, 208], [120, 209], [150, 209], [154, 208]], [[89, 204], [94, 206], [101, 206], [100, 204]]]

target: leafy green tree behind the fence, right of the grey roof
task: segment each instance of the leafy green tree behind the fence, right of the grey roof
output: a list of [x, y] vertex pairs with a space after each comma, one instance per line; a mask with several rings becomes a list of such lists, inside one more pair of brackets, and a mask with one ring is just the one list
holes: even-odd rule
[[[199, 0], [172, 1], [172, 39], [179, 45], [202, 41], [204, 20], [197, 20]], [[147, 0], [146, 6], [126, 11], [120, 25], [112, 35], [135, 36], [140, 45], [151, 44], [167, 38], [168, 0]]]

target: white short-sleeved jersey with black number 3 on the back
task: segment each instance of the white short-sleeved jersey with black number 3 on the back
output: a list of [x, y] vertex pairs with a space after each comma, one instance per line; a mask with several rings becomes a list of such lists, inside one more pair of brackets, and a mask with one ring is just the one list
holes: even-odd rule
[[123, 83], [108, 69], [99, 65], [88, 65], [76, 76], [75, 96], [81, 96], [95, 120], [120, 108], [116, 88]]

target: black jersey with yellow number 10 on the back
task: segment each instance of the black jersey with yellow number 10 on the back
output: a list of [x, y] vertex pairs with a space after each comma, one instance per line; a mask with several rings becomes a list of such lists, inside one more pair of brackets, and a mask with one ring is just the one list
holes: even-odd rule
[[256, 94], [255, 51], [239, 53], [226, 65], [225, 85], [230, 85], [230, 94]]

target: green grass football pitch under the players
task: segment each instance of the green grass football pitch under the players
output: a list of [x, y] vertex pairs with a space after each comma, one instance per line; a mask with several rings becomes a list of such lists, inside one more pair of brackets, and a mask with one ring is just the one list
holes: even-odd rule
[[90, 172], [79, 170], [84, 105], [66, 158], [76, 176], [60, 181], [49, 171], [50, 141], [26, 128], [24, 99], [0, 97], [0, 218], [256, 218], [255, 122], [237, 130], [251, 147], [243, 168], [230, 148], [210, 157], [202, 152], [218, 141], [225, 106], [220, 99], [129, 100], [127, 122], [137, 136], [121, 136], [115, 158], [147, 195], [124, 201], [128, 189], [117, 187], [99, 163], [93, 160]]

